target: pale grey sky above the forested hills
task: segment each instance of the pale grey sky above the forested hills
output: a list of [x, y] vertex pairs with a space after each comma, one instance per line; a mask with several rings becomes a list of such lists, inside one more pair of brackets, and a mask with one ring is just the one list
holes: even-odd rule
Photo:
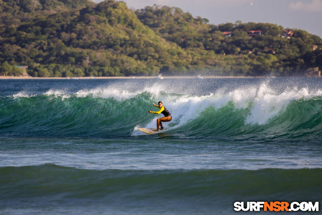
[[[92, 0], [99, 3], [102, 0]], [[178, 7], [209, 24], [262, 22], [298, 28], [322, 37], [322, 0], [123, 0], [131, 9]], [[319, 21], [320, 20], [320, 21]]]

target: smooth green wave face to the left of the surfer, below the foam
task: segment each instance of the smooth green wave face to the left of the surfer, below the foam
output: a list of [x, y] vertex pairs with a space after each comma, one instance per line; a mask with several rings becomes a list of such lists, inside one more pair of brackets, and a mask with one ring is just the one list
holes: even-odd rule
[[1, 98], [0, 129], [8, 136], [127, 135], [142, 121], [143, 108], [128, 110], [137, 100], [146, 106], [149, 103], [144, 94], [126, 101], [92, 96]]

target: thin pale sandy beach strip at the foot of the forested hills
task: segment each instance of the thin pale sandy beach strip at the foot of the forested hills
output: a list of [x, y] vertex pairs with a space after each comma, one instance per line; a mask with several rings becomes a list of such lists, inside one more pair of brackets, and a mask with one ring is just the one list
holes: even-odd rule
[[[31, 76], [0, 76], [0, 79], [203, 79], [203, 78], [264, 78], [263, 76], [104, 76], [104, 77], [31, 77]], [[272, 76], [271, 78], [275, 78]]]

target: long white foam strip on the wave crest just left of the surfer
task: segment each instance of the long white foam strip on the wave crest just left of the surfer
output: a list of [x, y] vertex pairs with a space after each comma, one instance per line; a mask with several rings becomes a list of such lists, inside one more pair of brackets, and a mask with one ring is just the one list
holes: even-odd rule
[[80, 90], [76, 93], [77, 97], [87, 97], [89, 95], [93, 97], [101, 98], [115, 98], [116, 100], [130, 99], [138, 95], [140, 92], [131, 93], [126, 90], [119, 90], [114, 88], [95, 88], [90, 90]]

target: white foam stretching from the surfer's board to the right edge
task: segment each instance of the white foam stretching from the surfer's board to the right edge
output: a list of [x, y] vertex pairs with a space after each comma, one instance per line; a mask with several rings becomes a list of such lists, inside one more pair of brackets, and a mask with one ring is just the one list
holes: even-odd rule
[[[145, 88], [146, 91], [148, 91], [147, 89]], [[149, 92], [157, 95], [161, 89], [152, 86]], [[169, 96], [160, 94], [158, 100], [161, 100], [164, 106], [170, 111], [173, 117], [171, 122], [176, 124], [174, 127], [169, 127], [167, 124], [171, 122], [165, 122], [163, 126], [166, 126], [168, 128], [167, 130], [169, 130], [189, 123], [189, 121], [197, 118], [201, 112], [210, 106], [214, 109], [219, 109], [226, 106], [229, 102], [233, 102], [234, 107], [238, 109], [248, 108], [252, 104], [251, 112], [246, 116], [245, 124], [262, 125], [270, 118], [277, 116], [280, 111], [283, 111], [290, 101], [300, 98], [309, 99], [314, 96], [322, 96], [322, 91], [309, 92], [306, 88], [300, 90], [294, 88], [278, 93], [270, 88], [267, 83], [263, 83], [259, 87], [243, 87], [228, 93], [217, 90], [215, 94], [208, 96]], [[147, 108], [147, 110], [149, 109], [155, 111], [153, 107]], [[140, 126], [156, 128], [156, 119], [161, 117], [163, 117], [162, 114], [156, 115], [147, 125]], [[134, 128], [133, 135], [142, 135], [138, 131], [140, 126]]]

